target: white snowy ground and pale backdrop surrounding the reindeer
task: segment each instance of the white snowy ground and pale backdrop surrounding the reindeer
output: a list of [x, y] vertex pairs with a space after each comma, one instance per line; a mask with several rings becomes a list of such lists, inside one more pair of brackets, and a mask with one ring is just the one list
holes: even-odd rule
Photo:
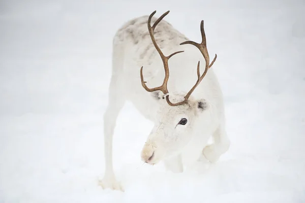
[[[153, 124], [126, 103], [114, 136], [125, 192], [103, 190], [111, 43], [130, 18], [166, 16], [209, 52], [230, 150], [182, 174], [140, 150]], [[305, 202], [304, 1], [1, 1], [0, 202]]]

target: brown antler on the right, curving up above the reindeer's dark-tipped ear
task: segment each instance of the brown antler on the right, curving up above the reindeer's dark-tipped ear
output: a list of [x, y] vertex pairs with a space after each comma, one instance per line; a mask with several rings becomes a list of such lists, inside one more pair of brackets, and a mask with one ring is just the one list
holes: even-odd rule
[[166, 101], [170, 106], [178, 106], [178, 105], [182, 105], [182, 104], [186, 104], [190, 95], [192, 94], [192, 92], [195, 90], [195, 88], [199, 85], [199, 83], [201, 82], [201, 80], [204, 78], [205, 74], [207, 73], [207, 70], [214, 64], [216, 58], [217, 58], [217, 54], [215, 54], [214, 59], [212, 60], [211, 64], [209, 64], [209, 55], [207, 52], [207, 48], [206, 48], [206, 39], [205, 39], [205, 32], [204, 32], [204, 27], [203, 27], [203, 20], [200, 23], [200, 31], [201, 31], [201, 37], [202, 37], [202, 42], [200, 44], [193, 42], [193, 41], [186, 41], [186, 42], [182, 42], [180, 45], [185, 45], [185, 44], [191, 44], [194, 45], [195, 47], [197, 47], [200, 52], [202, 53], [204, 59], [205, 59], [205, 70], [203, 72], [203, 74], [200, 77], [200, 61], [198, 61], [198, 65], [197, 65], [197, 82], [196, 84], [192, 87], [192, 89], [187, 93], [187, 95], [184, 97], [183, 101], [180, 101], [178, 103], [171, 103], [169, 100], [169, 96], [166, 96]]

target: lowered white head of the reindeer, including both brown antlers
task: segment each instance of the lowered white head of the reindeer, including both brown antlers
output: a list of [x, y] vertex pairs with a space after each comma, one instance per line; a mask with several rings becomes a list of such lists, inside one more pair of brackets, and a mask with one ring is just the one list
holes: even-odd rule
[[149, 134], [141, 152], [142, 160], [151, 164], [157, 163], [160, 160], [181, 152], [181, 150], [191, 140], [191, 135], [194, 133], [193, 129], [196, 129], [197, 126], [200, 128], [200, 121], [205, 118], [207, 112], [206, 110], [208, 109], [209, 105], [203, 98], [196, 100], [191, 96], [191, 94], [199, 85], [201, 80], [206, 75], [209, 67], [212, 66], [217, 58], [217, 55], [215, 55], [215, 58], [209, 64], [209, 55], [206, 48], [206, 39], [202, 20], [200, 24], [202, 42], [198, 44], [193, 41], [186, 41], [180, 45], [191, 44], [196, 46], [205, 59], [205, 70], [200, 76], [200, 62], [198, 61], [198, 79], [192, 89], [185, 96], [183, 96], [181, 93], [169, 94], [167, 89], [167, 82], [169, 78], [168, 60], [175, 54], [183, 51], [172, 53], [169, 56], [165, 56], [162, 53], [161, 49], [156, 43], [154, 30], [158, 23], [169, 13], [169, 11], [164, 13], [159, 19], [156, 20], [154, 25], [151, 26], [151, 18], [155, 13], [156, 11], [151, 13], [148, 18], [148, 31], [150, 38], [163, 61], [165, 70], [163, 84], [159, 87], [148, 88], [143, 79], [143, 66], [140, 70], [143, 88], [148, 92], [154, 92], [155, 98], [159, 99], [160, 103], [164, 103], [160, 105], [160, 112], [157, 114], [158, 117], [156, 118], [155, 126], [153, 130], [151, 130], [151, 133]]

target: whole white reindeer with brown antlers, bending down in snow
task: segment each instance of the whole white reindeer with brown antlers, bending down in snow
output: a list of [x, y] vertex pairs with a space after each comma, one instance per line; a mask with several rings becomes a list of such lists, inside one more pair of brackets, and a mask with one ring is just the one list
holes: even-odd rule
[[[202, 42], [181, 43], [188, 39], [162, 21], [169, 11], [159, 19], [153, 17], [155, 13], [128, 21], [114, 36], [109, 104], [104, 114], [106, 167], [100, 182], [104, 189], [123, 191], [113, 172], [112, 138], [117, 116], [127, 99], [145, 118], [155, 122], [141, 152], [146, 163], [164, 161], [168, 170], [178, 173], [184, 169], [182, 157], [187, 154], [197, 158], [203, 153], [214, 162], [229, 149], [223, 95], [214, 72], [209, 69], [217, 55], [209, 64], [203, 21]], [[155, 21], [153, 26], [151, 21]], [[178, 51], [179, 44], [194, 46], [184, 46], [185, 51]], [[177, 53], [181, 54], [174, 56]], [[200, 76], [197, 61], [202, 55], [205, 69]], [[207, 145], [210, 137], [214, 143]]]

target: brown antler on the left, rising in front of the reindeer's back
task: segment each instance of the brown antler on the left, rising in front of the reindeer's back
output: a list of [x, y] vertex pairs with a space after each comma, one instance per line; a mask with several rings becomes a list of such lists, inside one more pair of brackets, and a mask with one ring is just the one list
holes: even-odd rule
[[150, 14], [150, 16], [148, 17], [148, 22], [147, 22], [147, 26], [148, 26], [148, 31], [149, 31], [149, 35], [150, 35], [150, 38], [151, 38], [151, 41], [153, 41], [153, 44], [155, 46], [155, 48], [157, 49], [159, 55], [161, 56], [162, 58], [162, 61], [163, 61], [163, 65], [164, 65], [164, 70], [165, 70], [165, 78], [164, 78], [164, 81], [163, 81], [163, 84], [159, 87], [155, 87], [155, 88], [148, 88], [146, 86], [146, 82], [144, 81], [143, 79], [143, 66], [141, 67], [141, 70], [140, 70], [140, 74], [141, 74], [141, 82], [142, 82], [142, 86], [144, 87], [144, 89], [148, 92], [153, 92], [153, 91], [157, 91], [157, 90], [161, 90], [164, 94], [167, 94], [168, 93], [168, 90], [167, 90], [167, 81], [168, 81], [168, 78], [169, 78], [169, 70], [168, 70], [168, 59], [170, 59], [170, 57], [172, 57], [173, 55], [177, 54], [177, 53], [181, 53], [181, 52], [184, 52], [184, 51], [177, 51], [175, 53], [172, 53], [170, 54], [169, 56], [165, 56], [161, 49], [159, 48], [159, 46], [157, 45], [156, 43], [156, 40], [155, 40], [155, 36], [154, 36], [154, 31], [155, 31], [155, 28], [156, 26], [159, 24], [159, 22], [169, 13], [169, 11], [167, 11], [166, 13], [164, 13], [160, 18], [158, 18], [158, 20], [156, 20], [156, 22], [154, 23], [153, 26], [151, 26], [150, 24], [150, 21], [151, 21], [151, 18], [153, 18], [153, 16], [155, 15], [156, 11], [154, 11], [153, 13]]

